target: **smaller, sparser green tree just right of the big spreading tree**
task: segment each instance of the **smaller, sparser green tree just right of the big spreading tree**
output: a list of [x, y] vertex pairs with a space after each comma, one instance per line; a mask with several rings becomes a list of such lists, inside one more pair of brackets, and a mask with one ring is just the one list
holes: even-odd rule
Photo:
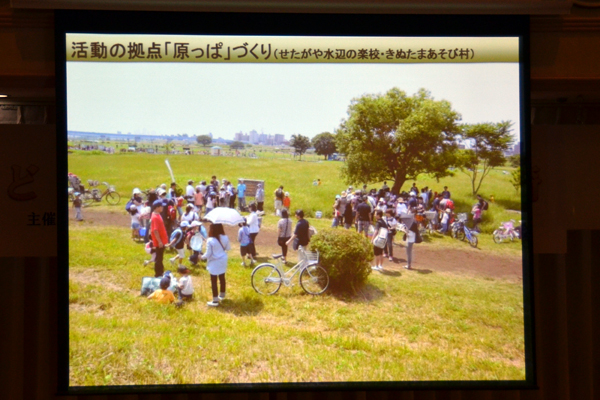
[[470, 124], [462, 127], [462, 138], [471, 148], [461, 152], [461, 170], [469, 176], [473, 195], [495, 167], [504, 165], [504, 152], [512, 145], [512, 122]]

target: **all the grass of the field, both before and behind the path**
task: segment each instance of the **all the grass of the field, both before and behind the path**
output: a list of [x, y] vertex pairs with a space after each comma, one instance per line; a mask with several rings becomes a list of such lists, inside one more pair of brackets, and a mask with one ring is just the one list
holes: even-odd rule
[[[84, 182], [107, 181], [125, 197], [118, 206], [103, 203], [90, 210], [124, 214], [134, 187], [169, 183], [164, 158], [73, 153], [69, 171]], [[303, 208], [309, 215], [321, 210], [328, 216], [335, 194], [346, 187], [339, 162], [183, 155], [169, 160], [178, 182], [213, 174], [264, 179], [268, 194], [283, 184], [292, 209]], [[319, 187], [311, 185], [316, 178], [323, 181]], [[484, 182], [482, 193], [496, 199], [486, 214], [487, 230], [501, 220], [518, 219], [506, 211], [520, 209], [508, 179], [499, 170]], [[464, 174], [439, 183], [419, 177], [417, 183], [449, 186], [459, 211], [474, 203]], [[269, 196], [265, 205], [270, 209]], [[263, 230], [274, 230], [276, 221], [266, 216]], [[317, 229], [330, 224], [328, 219], [310, 222]], [[398, 267], [371, 274], [354, 298], [312, 297], [298, 285], [266, 297], [252, 289], [251, 269], [240, 265], [232, 238], [228, 298], [220, 307], [207, 308], [208, 273], [195, 268], [196, 301], [178, 309], [139, 296], [141, 278], [153, 275], [153, 269], [142, 266], [143, 246], [133, 243], [130, 234], [126, 224], [70, 222], [71, 385], [525, 378], [519, 280]], [[438, 235], [420, 246], [439, 251], [442, 261], [448, 249], [511, 260], [521, 254], [520, 243], [496, 245], [486, 234], [478, 249]], [[261, 257], [277, 251], [275, 243], [260, 249]]]

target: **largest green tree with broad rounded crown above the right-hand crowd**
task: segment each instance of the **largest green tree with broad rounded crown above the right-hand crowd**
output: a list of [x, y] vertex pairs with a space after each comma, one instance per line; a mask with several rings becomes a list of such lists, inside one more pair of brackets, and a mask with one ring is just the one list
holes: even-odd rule
[[425, 89], [408, 96], [398, 88], [353, 99], [348, 118], [336, 130], [336, 145], [346, 156], [342, 177], [350, 184], [394, 182], [451, 175], [457, 165], [456, 138], [461, 116], [446, 100]]

